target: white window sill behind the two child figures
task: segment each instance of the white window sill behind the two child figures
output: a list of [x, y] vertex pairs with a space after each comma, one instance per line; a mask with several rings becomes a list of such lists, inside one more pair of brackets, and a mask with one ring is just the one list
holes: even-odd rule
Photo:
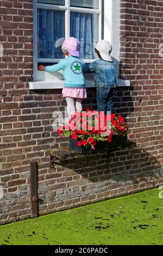
[[[117, 86], [130, 86], [129, 80], [117, 80]], [[86, 81], [86, 88], [93, 88], [95, 84], [93, 81]], [[64, 81], [54, 81], [54, 80], [45, 80], [45, 81], [36, 81], [29, 83], [30, 90], [43, 90], [43, 89], [61, 89], [64, 88]]]

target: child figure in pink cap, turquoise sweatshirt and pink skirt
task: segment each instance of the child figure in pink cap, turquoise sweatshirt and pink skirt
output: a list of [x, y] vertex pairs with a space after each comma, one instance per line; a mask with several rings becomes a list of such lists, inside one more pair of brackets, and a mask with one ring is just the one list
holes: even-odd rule
[[82, 99], [85, 99], [85, 79], [83, 76], [83, 66], [85, 65], [80, 56], [80, 42], [76, 38], [67, 38], [61, 47], [62, 52], [67, 56], [66, 59], [53, 66], [39, 66], [39, 70], [56, 72], [64, 70], [65, 86], [62, 96], [66, 97], [68, 118], [63, 120], [68, 124], [76, 111], [82, 112]]

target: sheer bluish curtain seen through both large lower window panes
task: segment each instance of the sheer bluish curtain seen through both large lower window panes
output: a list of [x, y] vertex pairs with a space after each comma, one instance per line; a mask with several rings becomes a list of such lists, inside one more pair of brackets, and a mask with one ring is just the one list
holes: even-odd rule
[[[70, 34], [81, 43], [80, 58], [95, 59], [98, 41], [98, 15], [71, 12]], [[65, 58], [61, 44], [65, 39], [64, 11], [37, 9], [38, 58]]]

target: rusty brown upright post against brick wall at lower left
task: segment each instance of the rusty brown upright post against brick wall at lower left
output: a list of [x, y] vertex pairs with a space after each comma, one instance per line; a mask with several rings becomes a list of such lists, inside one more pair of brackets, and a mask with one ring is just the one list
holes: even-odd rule
[[37, 211], [37, 163], [30, 163], [30, 208], [31, 208], [31, 217], [38, 217]]

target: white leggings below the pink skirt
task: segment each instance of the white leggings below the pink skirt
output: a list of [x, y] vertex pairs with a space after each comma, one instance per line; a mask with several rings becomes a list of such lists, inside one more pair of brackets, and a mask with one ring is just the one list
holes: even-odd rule
[[67, 112], [68, 116], [71, 118], [76, 111], [82, 112], [82, 99], [66, 97], [67, 101]]

